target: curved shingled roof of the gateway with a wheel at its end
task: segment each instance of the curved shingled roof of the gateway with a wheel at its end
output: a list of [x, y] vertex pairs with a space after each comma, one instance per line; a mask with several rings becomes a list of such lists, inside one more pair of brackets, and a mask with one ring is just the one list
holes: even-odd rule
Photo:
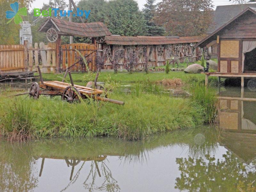
[[81, 37], [100, 37], [111, 35], [110, 31], [101, 22], [94, 23], [75, 23], [57, 18], [51, 18], [44, 22], [38, 31], [46, 32], [49, 28], [55, 27], [59, 34], [81, 36]]

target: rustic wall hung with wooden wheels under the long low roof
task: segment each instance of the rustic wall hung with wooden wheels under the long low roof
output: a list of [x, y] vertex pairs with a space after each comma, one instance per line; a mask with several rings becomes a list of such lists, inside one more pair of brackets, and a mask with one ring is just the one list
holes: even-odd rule
[[126, 63], [129, 62], [127, 54], [129, 50], [136, 50], [138, 52], [138, 65], [135, 68], [143, 68], [146, 57], [144, 50], [147, 50], [148, 67], [164, 66], [166, 60], [179, 60], [184, 62], [186, 56], [189, 56], [190, 61], [200, 59], [202, 51], [199, 48], [190, 46], [190, 44], [167, 44], [167, 45], [108, 45], [105, 43], [97, 44], [100, 51], [107, 52], [107, 59], [105, 60], [104, 69], [112, 69], [112, 62], [114, 58], [113, 50], [124, 50], [124, 58], [119, 60], [119, 68], [124, 69]]

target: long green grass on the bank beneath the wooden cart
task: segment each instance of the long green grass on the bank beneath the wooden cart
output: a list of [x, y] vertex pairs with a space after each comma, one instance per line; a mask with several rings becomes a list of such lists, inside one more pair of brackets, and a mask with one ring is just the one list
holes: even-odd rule
[[24, 100], [21, 96], [16, 98], [17, 106], [15, 99], [0, 97], [0, 108], [5, 114], [0, 115], [1, 131], [7, 138], [12, 130], [28, 130], [29, 136], [37, 137], [114, 136], [140, 140], [151, 134], [203, 123], [202, 109], [195, 108], [187, 99], [147, 92], [139, 92], [136, 97], [114, 92], [111, 99], [123, 100], [125, 105], [90, 100], [69, 104], [60, 97]]

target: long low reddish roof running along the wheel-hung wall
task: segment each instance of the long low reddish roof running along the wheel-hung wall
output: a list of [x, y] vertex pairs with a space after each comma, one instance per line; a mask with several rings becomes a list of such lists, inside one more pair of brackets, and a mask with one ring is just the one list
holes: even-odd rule
[[161, 45], [197, 43], [204, 36], [175, 37], [175, 36], [106, 36], [107, 44], [112, 45]]

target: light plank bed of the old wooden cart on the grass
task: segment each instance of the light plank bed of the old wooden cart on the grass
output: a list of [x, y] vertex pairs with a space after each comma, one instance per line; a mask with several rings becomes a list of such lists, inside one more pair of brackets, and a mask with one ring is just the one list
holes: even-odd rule
[[[41, 82], [39, 82], [39, 86], [43, 89], [45, 88], [45, 86], [48, 86], [48, 87], [64, 90], [68, 86], [72, 86], [72, 85], [68, 83], [60, 82], [60, 81], [44, 81], [44, 84], [41, 84]], [[74, 87], [76, 87], [80, 91], [80, 93], [84, 95], [98, 95], [103, 93], [102, 90], [92, 89], [90, 87], [84, 87], [81, 85], [74, 84]]]

